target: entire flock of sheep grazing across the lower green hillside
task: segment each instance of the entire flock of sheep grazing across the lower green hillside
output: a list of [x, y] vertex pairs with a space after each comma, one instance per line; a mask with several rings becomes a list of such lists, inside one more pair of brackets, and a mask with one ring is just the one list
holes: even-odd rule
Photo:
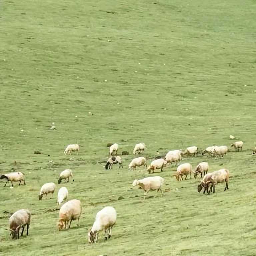
[[[242, 141], [237, 141], [233, 144], [231, 144], [231, 147], [234, 147], [236, 151], [241, 151], [243, 147]], [[139, 143], [135, 145], [135, 148], [133, 150], [134, 155], [142, 154], [144, 150], [146, 149], [144, 143]], [[68, 145], [64, 151], [64, 154], [72, 154], [72, 152], [79, 151], [79, 145], [78, 144], [71, 144]], [[118, 144], [115, 143], [110, 146], [110, 158], [107, 160], [106, 169], [112, 169], [113, 164], [119, 163], [119, 168], [123, 167], [122, 160], [120, 156], [117, 156], [118, 151]], [[202, 155], [208, 154], [210, 156], [214, 157], [223, 157], [228, 152], [227, 146], [212, 146], [208, 147], [203, 150]], [[165, 158], [158, 158], [151, 162], [151, 164], [147, 167], [146, 158], [144, 157], [137, 157], [134, 158], [131, 163], [128, 166], [128, 169], [136, 169], [136, 167], [144, 166], [147, 168], [147, 171], [149, 174], [151, 172], [155, 172], [156, 169], [159, 169], [161, 172], [164, 170], [164, 168], [167, 166], [167, 164], [176, 163], [176, 165], [181, 161], [182, 156], [195, 156], [198, 153], [198, 148], [188, 147], [185, 151], [182, 150], [172, 150], [169, 151]], [[229, 182], [229, 176], [230, 173], [227, 169], [221, 169], [217, 170], [211, 173], [207, 173], [209, 169], [209, 165], [207, 162], [201, 162], [199, 163], [194, 172], [192, 170], [192, 166], [190, 163], [184, 163], [177, 167], [176, 171], [176, 179], [177, 181], [183, 180], [183, 176], [185, 176], [185, 180], [188, 175], [194, 174], [194, 178], [196, 178], [198, 175], [201, 175], [202, 181], [198, 185], [198, 192], [200, 192], [204, 188], [204, 193], [207, 192], [207, 194], [210, 194], [210, 192], [215, 193], [215, 185], [218, 183], [226, 182], [225, 190], [228, 189], [228, 182]], [[62, 180], [66, 180], [69, 182], [69, 178], [71, 178], [73, 181], [73, 174], [71, 169], [66, 169], [63, 172], [60, 173], [60, 177], [58, 179], [58, 184], [62, 182]], [[11, 185], [13, 186], [13, 182], [18, 182], [19, 185], [21, 184], [21, 181], [24, 185], [25, 183], [25, 175], [22, 172], [14, 172], [14, 173], [7, 173], [4, 175], [1, 175], [0, 179], [6, 179], [6, 184], [11, 181]], [[147, 195], [147, 193], [151, 190], [157, 190], [161, 192], [161, 195], [163, 194], [161, 190], [161, 186], [164, 184], [164, 179], [160, 176], [151, 176], [140, 180], [134, 180], [132, 185], [133, 186], [139, 186], [139, 188], [144, 190], [144, 200]], [[41, 189], [40, 193], [38, 195], [39, 200], [42, 200], [43, 195], [46, 195], [51, 193], [53, 197], [53, 193], [55, 191], [56, 185], [53, 182], [49, 182], [44, 184]], [[66, 187], [61, 187], [58, 191], [57, 196], [57, 204], [61, 205], [65, 200], [68, 198], [68, 190]], [[79, 224], [79, 218], [81, 216], [82, 212], [82, 206], [81, 202], [77, 199], [73, 199], [70, 201], [67, 201], [64, 203], [59, 211], [59, 220], [57, 222], [57, 226], [59, 227], [59, 230], [70, 228], [72, 220], [78, 220]], [[25, 226], [27, 226], [27, 235], [28, 235], [28, 229], [30, 225], [30, 219], [31, 219], [31, 213], [29, 210], [21, 209], [16, 211], [9, 219], [9, 230], [11, 231], [12, 238], [18, 239], [19, 238], [19, 231], [22, 228], [21, 236], [23, 235], [23, 231]], [[116, 210], [111, 207], [107, 206], [103, 208], [101, 211], [99, 211], [96, 214], [96, 218], [94, 221], [94, 224], [92, 226], [92, 229], [88, 233], [88, 241], [89, 243], [95, 243], [98, 240], [98, 233], [101, 230], [105, 231], [105, 239], [108, 239], [111, 237], [111, 231], [112, 227], [114, 226], [117, 219], [117, 213]]]

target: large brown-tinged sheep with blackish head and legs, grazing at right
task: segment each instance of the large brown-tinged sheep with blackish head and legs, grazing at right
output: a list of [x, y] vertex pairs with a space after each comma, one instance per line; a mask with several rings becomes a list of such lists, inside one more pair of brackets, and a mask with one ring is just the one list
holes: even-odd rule
[[[207, 176], [206, 176], [207, 175]], [[228, 182], [229, 182], [229, 170], [227, 169], [220, 169], [218, 171], [214, 171], [212, 173], [208, 173], [206, 174], [202, 180], [202, 182], [198, 185], [197, 187], [197, 191], [200, 193], [200, 191], [202, 190], [202, 188], [204, 187], [204, 192], [207, 189], [208, 192], [208, 187], [210, 185], [210, 190], [208, 192], [208, 194], [210, 194], [210, 191], [212, 191], [213, 188], [213, 193], [215, 193], [215, 185], [218, 183], [222, 183], [222, 182], [226, 182], [226, 186], [224, 191], [226, 191], [226, 189], [228, 189]]]

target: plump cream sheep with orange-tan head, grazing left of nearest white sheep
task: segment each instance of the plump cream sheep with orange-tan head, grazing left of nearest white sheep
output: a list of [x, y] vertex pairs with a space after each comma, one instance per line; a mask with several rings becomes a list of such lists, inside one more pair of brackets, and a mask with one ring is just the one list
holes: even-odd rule
[[63, 204], [60, 208], [59, 221], [57, 222], [59, 231], [61, 231], [64, 228], [67, 229], [68, 223], [69, 223], [68, 228], [70, 228], [72, 220], [77, 219], [78, 226], [79, 226], [79, 218], [81, 216], [81, 213], [82, 213], [82, 205], [79, 200], [73, 199]]

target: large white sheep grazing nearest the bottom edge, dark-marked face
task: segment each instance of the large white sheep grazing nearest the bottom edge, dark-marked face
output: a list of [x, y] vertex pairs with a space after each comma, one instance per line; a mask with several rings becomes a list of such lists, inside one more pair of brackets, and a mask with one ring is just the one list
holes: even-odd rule
[[92, 229], [88, 233], [88, 241], [94, 244], [98, 241], [99, 231], [105, 230], [105, 239], [111, 237], [111, 231], [116, 223], [117, 213], [111, 206], [104, 207], [96, 214]]

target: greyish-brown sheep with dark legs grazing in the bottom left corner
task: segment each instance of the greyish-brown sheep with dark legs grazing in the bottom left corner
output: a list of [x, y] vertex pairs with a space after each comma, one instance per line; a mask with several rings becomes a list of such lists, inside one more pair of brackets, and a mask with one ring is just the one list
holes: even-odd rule
[[12, 239], [19, 239], [20, 228], [22, 228], [21, 236], [23, 236], [23, 231], [25, 226], [27, 226], [27, 236], [28, 228], [30, 225], [31, 213], [29, 210], [21, 209], [15, 212], [9, 219], [9, 230], [11, 231]]

